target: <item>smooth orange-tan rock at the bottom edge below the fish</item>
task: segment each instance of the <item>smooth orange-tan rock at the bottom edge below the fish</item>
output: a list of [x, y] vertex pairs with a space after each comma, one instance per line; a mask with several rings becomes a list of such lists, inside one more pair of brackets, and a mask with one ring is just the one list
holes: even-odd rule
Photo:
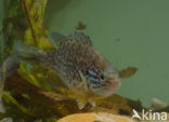
[[67, 116], [57, 122], [138, 122], [130, 117], [116, 116], [106, 112], [76, 113]]

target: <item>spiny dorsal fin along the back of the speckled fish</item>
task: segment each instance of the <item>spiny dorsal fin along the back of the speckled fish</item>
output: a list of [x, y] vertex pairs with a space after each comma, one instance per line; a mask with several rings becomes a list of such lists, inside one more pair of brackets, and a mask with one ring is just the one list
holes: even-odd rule
[[68, 36], [53, 32], [52, 39], [54, 40], [56, 46], [60, 46], [67, 42], [84, 43], [84, 44], [92, 45], [89, 36], [84, 35], [83, 32], [74, 32], [73, 35], [68, 35]]

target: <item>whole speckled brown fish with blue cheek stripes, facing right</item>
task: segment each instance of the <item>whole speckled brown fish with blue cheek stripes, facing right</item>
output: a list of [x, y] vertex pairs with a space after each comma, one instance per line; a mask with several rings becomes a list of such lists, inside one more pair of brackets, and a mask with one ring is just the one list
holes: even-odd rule
[[95, 99], [112, 95], [120, 86], [118, 72], [93, 46], [90, 38], [82, 32], [64, 36], [52, 33], [57, 46], [53, 52], [15, 43], [18, 58], [36, 63], [55, 72], [64, 84], [75, 93], [80, 109], [87, 103], [95, 106]]

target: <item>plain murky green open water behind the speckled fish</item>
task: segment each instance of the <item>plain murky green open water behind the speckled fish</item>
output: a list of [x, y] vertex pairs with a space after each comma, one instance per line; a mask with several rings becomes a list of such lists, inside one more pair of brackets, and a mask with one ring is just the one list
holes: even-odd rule
[[168, 0], [49, 0], [44, 26], [70, 33], [79, 21], [87, 24], [82, 31], [114, 67], [139, 68], [117, 94], [148, 106], [154, 97], [169, 103], [168, 6]]

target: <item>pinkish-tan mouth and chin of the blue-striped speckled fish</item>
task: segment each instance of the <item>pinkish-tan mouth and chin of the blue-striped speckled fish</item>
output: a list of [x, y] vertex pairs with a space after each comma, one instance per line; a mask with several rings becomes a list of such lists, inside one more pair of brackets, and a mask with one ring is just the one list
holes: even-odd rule
[[105, 86], [102, 87], [101, 91], [98, 91], [98, 95], [101, 96], [110, 96], [113, 95], [121, 85], [121, 82], [119, 79], [114, 79], [113, 81], [107, 81], [107, 83], [105, 84]]

